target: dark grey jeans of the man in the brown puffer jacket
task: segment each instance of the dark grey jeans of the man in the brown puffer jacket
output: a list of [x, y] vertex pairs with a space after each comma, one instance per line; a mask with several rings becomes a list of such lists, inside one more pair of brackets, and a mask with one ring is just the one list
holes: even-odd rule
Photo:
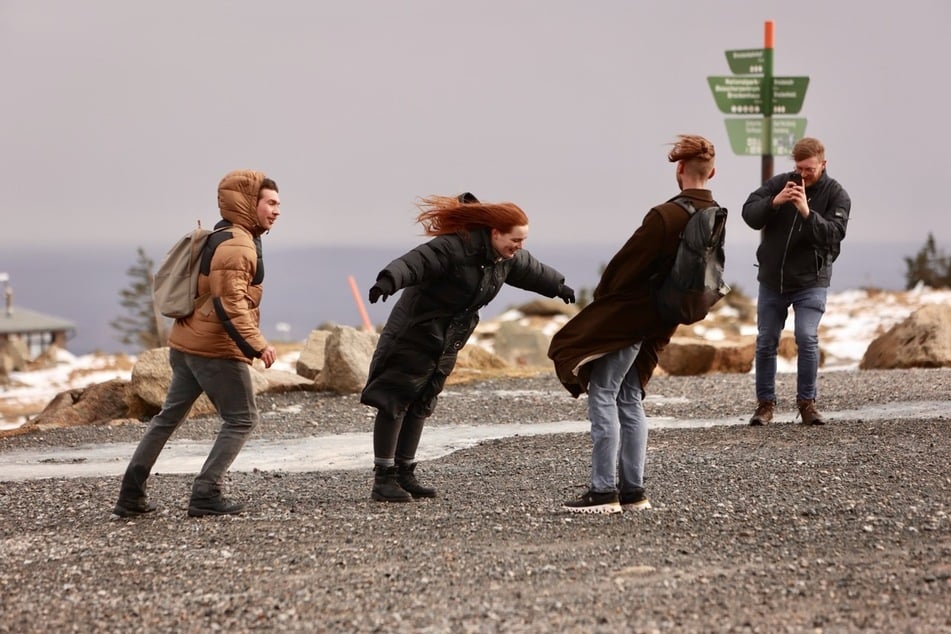
[[195, 478], [192, 498], [213, 498], [221, 493], [225, 472], [238, 456], [258, 422], [254, 387], [247, 363], [233, 359], [199, 357], [169, 351], [172, 381], [162, 411], [156, 414], [126, 469], [119, 501], [145, 500], [145, 483], [172, 433], [182, 424], [192, 405], [204, 392], [224, 421], [215, 443]]

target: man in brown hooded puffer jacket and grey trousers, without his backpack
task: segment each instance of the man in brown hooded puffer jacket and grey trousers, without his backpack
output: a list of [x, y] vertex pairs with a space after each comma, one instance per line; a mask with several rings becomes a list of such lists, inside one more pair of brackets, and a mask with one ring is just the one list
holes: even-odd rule
[[[169, 335], [172, 381], [162, 411], [152, 418], [139, 442], [113, 509], [118, 517], [155, 510], [145, 485], [172, 433], [188, 416], [202, 392], [224, 421], [214, 446], [195, 478], [188, 515], [231, 515], [244, 504], [221, 494], [224, 474], [258, 422], [250, 364], [260, 358], [271, 367], [277, 357], [260, 329], [264, 280], [261, 235], [280, 215], [277, 183], [261, 172], [230, 172], [218, 184], [222, 220], [212, 234], [210, 258], [203, 258], [195, 312], [178, 319]], [[209, 261], [210, 260], [210, 261]]]

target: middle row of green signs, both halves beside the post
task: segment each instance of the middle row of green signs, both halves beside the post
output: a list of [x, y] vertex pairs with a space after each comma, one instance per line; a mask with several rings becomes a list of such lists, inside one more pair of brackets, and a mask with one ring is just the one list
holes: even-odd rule
[[[762, 77], [707, 77], [720, 112], [764, 114]], [[797, 114], [809, 87], [808, 77], [773, 77], [772, 114]]]

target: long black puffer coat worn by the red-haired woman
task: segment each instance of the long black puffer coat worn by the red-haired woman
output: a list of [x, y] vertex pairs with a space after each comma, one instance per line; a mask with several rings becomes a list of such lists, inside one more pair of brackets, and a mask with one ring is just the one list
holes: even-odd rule
[[370, 363], [360, 402], [392, 416], [415, 404], [432, 413], [459, 350], [479, 323], [479, 309], [510, 284], [554, 297], [564, 276], [528, 251], [498, 259], [488, 229], [437, 236], [393, 260], [377, 276], [405, 289]]

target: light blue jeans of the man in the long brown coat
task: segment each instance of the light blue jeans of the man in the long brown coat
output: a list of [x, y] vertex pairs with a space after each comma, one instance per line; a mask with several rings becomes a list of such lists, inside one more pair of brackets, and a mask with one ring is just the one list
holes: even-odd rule
[[[641, 380], [634, 366], [641, 344], [617, 350], [591, 364], [588, 418], [591, 420], [591, 490], [607, 493], [644, 486], [647, 417]], [[620, 467], [620, 469], [618, 468]]]

